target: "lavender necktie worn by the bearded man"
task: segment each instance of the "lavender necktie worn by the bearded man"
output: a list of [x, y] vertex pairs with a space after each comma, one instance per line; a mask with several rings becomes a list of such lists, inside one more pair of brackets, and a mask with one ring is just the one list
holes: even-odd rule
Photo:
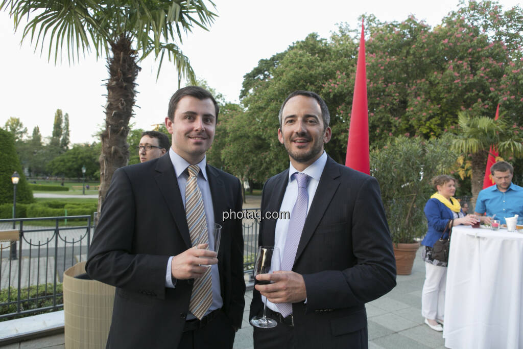
[[[283, 257], [281, 260], [281, 270], [291, 271], [294, 265], [294, 258], [300, 243], [301, 232], [307, 217], [307, 207], [309, 205], [309, 194], [307, 193], [307, 184], [309, 183], [309, 176], [304, 173], [294, 173], [294, 178], [298, 182], [298, 198], [292, 208], [291, 217], [289, 220], [289, 229], [287, 230], [287, 239], [285, 240], [285, 248], [283, 249]], [[286, 318], [292, 313], [291, 303], [277, 303], [276, 307], [281, 313], [281, 316]]]

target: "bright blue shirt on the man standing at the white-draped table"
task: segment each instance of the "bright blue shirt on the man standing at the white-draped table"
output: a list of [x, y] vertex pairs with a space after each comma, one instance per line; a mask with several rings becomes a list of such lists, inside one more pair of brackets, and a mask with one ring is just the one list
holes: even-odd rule
[[490, 217], [495, 214], [495, 219], [502, 224], [506, 224], [505, 217], [523, 217], [523, 188], [514, 183], [510, 183], [505, 193], [500, 192], [495, 184], [485, 188], [477, 196], [474, 211], [486, 212]]

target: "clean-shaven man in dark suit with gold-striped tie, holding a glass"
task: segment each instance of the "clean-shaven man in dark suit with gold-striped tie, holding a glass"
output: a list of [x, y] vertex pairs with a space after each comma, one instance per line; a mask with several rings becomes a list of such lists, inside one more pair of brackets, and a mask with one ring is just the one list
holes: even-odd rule
[[[236, 177], [206, 164], [218, 111], [205, 89], [179, 89], [168, 153], [112, 177], [86, 264], [116, 286], [107, 347], [232, 348], [245, 305], [242, 222], [222, 212], [241, 211], [242, 195]], [[218, 255], [202, 233], [214, 223]]]

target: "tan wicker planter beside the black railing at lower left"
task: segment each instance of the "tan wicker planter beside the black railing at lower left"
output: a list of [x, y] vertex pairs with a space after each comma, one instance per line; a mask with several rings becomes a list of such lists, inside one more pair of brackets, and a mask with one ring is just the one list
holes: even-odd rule
[[83, 273], [85, 262], [64, 272], [65, 347], [103, 349], [111, 327], [115, 287], [75, 278]]

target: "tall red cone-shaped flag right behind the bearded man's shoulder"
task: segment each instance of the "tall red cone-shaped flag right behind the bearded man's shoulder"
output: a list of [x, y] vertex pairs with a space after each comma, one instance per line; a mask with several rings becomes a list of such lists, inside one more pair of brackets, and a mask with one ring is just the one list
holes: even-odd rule
[[354, 83], [353, 110], [350, 115], [349, 139], [345, 166], [370, 174], [369, 116], [367, 108], [367, 73], [365, 68], [365, 37], [361, 21], [361, 38]]

